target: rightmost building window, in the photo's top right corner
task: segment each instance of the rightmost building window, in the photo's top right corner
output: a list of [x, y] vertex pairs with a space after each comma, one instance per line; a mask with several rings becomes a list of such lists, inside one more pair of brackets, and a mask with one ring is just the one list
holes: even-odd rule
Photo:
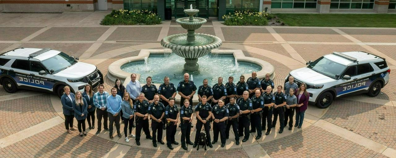
[[373, 9], [374, 0], [331, 0], [330, 9]]

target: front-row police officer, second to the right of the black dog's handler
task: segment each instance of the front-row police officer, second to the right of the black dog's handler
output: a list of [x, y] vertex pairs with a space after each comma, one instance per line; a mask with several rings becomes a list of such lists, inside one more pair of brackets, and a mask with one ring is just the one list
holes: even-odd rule
[[230, 116], [228, 117], [228, 123], [225, 128], [225, 137], [228, 139], [230, 135], [230, 127], [232, 125], [232, 130], [234, 131], [236, 145], [239, 145], [239, 134], [238, 134], [238, 117], [239, 117], [239, 105], [235, 102], [235, 98], [230, 98], [230, 103], [226, 105], [228, 111], [230, 111]]

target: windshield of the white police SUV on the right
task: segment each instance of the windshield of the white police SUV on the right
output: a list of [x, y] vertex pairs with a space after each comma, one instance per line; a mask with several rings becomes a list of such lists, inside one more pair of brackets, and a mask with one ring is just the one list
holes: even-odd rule
[[322, 56], [309, 64], [308, 68], [335, 79], [335, 75], [340, 75], [345, 70], [346, 66]]

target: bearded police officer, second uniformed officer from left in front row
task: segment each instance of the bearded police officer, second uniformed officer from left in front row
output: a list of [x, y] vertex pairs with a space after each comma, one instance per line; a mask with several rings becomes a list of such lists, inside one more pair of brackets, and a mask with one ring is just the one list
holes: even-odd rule
[[[157, 140], [161, 144], [165, 144], [164, 141], [162, 141], [161, 129], [164, 123], [162, 120], [165, 115], [165, 107], [164, 104], [160, 102], [160, 96], [158, 96], [158, 94], [154, 96], [154, 102], [149, 105], [147, 113], [150, 115], [151, 119], [152, 146], [157, 147]], [[158, 135], [156, 135], [157, 132]]]

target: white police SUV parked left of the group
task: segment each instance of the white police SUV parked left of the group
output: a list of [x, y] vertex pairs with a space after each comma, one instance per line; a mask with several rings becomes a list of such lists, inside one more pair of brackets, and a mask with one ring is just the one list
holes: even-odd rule
[[63, 95], [63, 87], [84, 91], [96, 88], [103, 75], [96, 66], [77, 62], [78, 58], [52, 49], [18, 48], [0, 54], [0, 85], [9, 93], [18, 88]]

